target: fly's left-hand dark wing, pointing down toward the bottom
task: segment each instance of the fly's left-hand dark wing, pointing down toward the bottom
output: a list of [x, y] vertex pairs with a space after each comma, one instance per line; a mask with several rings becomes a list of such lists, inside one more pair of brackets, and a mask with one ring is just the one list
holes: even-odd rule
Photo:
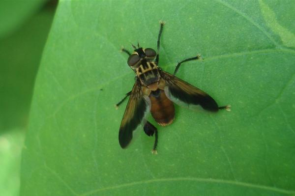
[[141, 125], [150, 110], [150, 100], [143, 95], [140, 84], [134, 84], [119, 130], [119, 143], [127, 147], [132, 139], [132, 132]]

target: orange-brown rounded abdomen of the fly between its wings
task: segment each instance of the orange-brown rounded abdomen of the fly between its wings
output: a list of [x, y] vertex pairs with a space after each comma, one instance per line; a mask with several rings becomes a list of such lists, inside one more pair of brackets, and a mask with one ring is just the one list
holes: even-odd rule
[[161, 126], [171, 124], [174, 119], [174, 105], [167, 98], [164, 90], [152, 91], [149, 99], [151, 102], [150, 112], [155, 121]]

